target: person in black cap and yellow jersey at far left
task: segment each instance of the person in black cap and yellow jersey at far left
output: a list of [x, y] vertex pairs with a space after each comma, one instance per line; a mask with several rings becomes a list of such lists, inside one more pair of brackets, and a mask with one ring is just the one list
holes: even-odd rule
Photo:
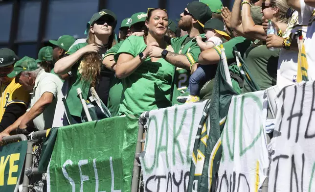
[[25, 113], [29, 101], [29, 94], [22, 85], [15, 78], [7, 77], [18, 60], [13, 50], [0, 49], [0, 132]]

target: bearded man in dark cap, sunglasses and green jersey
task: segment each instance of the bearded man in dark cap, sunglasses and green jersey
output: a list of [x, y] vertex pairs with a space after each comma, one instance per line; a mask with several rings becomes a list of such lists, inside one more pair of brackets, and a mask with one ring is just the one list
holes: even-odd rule
[[174, 52], [158, 47], [153, 47], [150, 57], [162, 57], [176, 67], [174, 90], [172, 98], [173, 105], [182, 104], [177, 97], [183, 94], [188, 87], [190, 70], [197, 69], [198, 57], [201, 52], [196, 42], [196, 37], [203, 34], [204, 24], [212, 18], [210, 8], [203, 2], [193, 1], [189, 3], [180, 14], [179, 27], [187, 31], [188, 35], [171, 40]]

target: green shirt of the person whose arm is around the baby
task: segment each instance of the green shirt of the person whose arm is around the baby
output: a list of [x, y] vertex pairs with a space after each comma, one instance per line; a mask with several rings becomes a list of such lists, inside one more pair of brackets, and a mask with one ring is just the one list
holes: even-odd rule
[[[243, 57], [247, 48], [251, 45], [251, 41], [247, 40], [245, 37], [234, 37], [228, 42], [223, 43], [223, 48], [225, 48], [225, 55], [228, 64], [232, 64], [235, 62], [234, 57], [234, 50], [238, 50]], [[220, 46], [214, 47], [217, 53], [221, 56], [221, 48]], [[232, 80], [232, 84], [236, 85], [236, 81]], [[212, 96], [212, 89], [215, 85], [215, 78], [211, 79], [210, 81], [206, 82], [200, 90], [200, 98], [201, 99], [211, 99]], [[233, 86], [234, 87], [234, 86]]]

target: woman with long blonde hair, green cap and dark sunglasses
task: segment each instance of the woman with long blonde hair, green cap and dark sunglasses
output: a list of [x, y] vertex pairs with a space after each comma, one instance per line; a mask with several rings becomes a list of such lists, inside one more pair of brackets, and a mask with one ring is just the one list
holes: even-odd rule
[[95, 13], [90, 19], [87, 43], [73, 46], [66, 52], [65, 57], [55, 64], [54, 72], [57, 74], [70, 71], [72, 73], [72, 84], [68, 89], [66, 101], [74, 123], [81, 122], [81, 117], [85, 114], [77, 88], [81, 88], [82, 96], [87, 100], [91, 96], [90, 88], [95, 87], [97, 95], [105, 105], [107, 103], [113, 72], [111, 66], [102, 65], [101, 59], [107, 49], [116, 44], [114, 40], [116, 24], [116, 15], [111, 10], [102, 9]]

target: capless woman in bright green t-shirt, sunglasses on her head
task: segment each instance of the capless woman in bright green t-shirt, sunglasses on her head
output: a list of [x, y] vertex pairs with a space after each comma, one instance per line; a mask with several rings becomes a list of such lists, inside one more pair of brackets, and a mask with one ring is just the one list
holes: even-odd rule
[[148, 57], [154, 46], [173, 51], [164, 39], [168, 30], [166, 11], [149, 9], [145, 25], [145, 35], [127, 38], [114, 56], [116, 76], [123, 84], [121, 115], [140, 116], [144, 111], [171, 106], [174, 66], [163, 58]]

